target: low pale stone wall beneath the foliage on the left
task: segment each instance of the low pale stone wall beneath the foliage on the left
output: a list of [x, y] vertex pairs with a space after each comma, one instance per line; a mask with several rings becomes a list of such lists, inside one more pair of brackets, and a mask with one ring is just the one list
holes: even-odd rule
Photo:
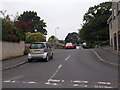
[[0, 60], [24, 55], [24, 49], [24, 41], [20, 41], [20, 43], [2, 42], [2, 56], [0, 55]]

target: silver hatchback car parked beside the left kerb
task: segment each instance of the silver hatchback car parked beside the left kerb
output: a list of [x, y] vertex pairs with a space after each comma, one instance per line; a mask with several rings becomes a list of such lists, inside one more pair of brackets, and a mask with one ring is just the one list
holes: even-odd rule
[[49, 43], [38, 42], [30, 45], [28, 62], [31, 62], [34, 59], [44, 59], [46, 62], [48, 62], [49, 59], [53, 59], [53, 50]]

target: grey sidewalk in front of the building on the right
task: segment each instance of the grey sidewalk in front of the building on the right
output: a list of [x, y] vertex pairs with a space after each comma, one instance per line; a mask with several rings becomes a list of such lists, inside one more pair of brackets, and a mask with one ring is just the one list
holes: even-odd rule
[[98, 54], [98, 56], [102, 59], [102, 61], [113, 65], [120, 65], [120, 52], [113, 50], [112, 47], [100, 47], [95, 48], [94, 50], [96, 54]]

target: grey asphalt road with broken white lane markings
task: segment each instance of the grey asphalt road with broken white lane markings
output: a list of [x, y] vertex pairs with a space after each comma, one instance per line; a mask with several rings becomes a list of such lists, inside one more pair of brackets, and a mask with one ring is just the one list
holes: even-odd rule
[[49, 62], [3, 71], [3, 88], [117, 88], [118, 68], [98, 59], [91, 49], [55, 50]]

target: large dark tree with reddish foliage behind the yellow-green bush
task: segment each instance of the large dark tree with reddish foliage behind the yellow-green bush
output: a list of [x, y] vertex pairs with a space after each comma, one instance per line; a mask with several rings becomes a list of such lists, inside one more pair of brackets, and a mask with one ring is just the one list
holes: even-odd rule
[[46, 23], [34, 11], [23, 12], [15, 23], [24, 32], [35, 32], [37, 30], [37, 32], [47, 35]]

